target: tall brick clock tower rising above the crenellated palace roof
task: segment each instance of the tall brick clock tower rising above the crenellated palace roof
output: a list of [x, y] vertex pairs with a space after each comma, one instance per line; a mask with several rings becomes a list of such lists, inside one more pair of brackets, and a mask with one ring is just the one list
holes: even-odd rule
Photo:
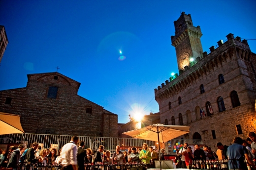
[[174, 21], [175, 36], [171, 36], [172, 46], [176, 49], [179, 72], [184, 71], [185, 66], [190, 66], [190, 59], [201, 57], [203, 53], [200, 26], [193, 26], [191, 15], [181, 13], [180, 18]]

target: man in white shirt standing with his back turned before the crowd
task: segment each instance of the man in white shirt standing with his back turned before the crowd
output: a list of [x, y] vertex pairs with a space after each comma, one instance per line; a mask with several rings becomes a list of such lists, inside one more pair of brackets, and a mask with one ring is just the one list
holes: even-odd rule
[[78, 137], [73, 136], [71, 141], [62, 147], [61, 161], [62, 169], [61, 170], [78, 170], [77, 167], [77, 142]]

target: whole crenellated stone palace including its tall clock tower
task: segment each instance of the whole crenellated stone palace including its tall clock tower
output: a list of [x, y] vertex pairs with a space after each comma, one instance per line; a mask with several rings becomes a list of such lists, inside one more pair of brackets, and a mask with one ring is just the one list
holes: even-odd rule
[[180, 138], [212, 147], [245, 139], [256, 131], [256, 54], [231, 33], [203, 52], [200, 26], [193, 26], [190, 14], [182, 12], [174, 26], [179, 75], [155, 89], [161, 123], [191, 126]]

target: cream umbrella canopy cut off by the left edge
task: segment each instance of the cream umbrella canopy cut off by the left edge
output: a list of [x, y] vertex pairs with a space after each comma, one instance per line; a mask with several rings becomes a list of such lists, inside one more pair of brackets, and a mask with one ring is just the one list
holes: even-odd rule
[[20, 115], [0, 112], [0, 135], [25, 133], [20, 122]]

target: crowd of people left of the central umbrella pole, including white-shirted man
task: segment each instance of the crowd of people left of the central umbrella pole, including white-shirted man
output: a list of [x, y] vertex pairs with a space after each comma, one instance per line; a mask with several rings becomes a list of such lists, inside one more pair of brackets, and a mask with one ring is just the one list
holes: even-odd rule
[[[78, 145], [78, 147], [77, 147]], [[95, 145], [93, 145], [95, 147]], [[129, 147], [128, 150], [121, 150], [116, 146], [116, 150], [111, 154], [109, 150], [104, 150], [103, 145], [99, 145], [97, 150], [91, 148], [85, 149], [85, 143], [79, 141], [74, 136], [71, 141], [64, 145], [59, 152], [55, 148], [42, 148], [37, 142], [32, 144], [31, 148], [25, 148], [20, 144], [17, 149], [10, 146], [9, 150], [0, 150], [0, 169], [16, 170], [19, 164], [28, 162], [41, 166], [59, 165], [64, 170], [84, 170], [84, 164], [98, 163], [144, 163], [153, 168], [154, 160], [158, 160], [158, 153], [152, 146], [143, 144], [142, 148]], [[164, 150], [162, 149], [161, 157]]]

